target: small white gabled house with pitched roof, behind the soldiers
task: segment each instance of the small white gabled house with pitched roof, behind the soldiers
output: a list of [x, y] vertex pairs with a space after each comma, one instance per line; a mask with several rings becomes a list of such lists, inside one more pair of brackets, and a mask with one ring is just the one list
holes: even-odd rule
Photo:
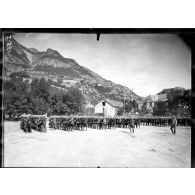
[[120, 108], [123, 107], [123, 103], [113, 100], [102, 100], [95, 106], [95, 114], [114, 117]]

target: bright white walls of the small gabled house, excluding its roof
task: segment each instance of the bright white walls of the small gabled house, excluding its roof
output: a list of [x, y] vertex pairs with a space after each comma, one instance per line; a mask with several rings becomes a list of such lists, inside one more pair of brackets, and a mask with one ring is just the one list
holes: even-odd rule
[[117, 108], [105, 101], [101, 101], [95, 106], [95, 114], [114, 117], [117, 114]]

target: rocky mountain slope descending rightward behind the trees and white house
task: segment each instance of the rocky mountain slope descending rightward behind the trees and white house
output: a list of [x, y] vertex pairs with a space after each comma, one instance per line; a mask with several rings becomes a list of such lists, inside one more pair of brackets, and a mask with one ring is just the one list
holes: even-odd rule
[[86, 99], [97, 103], [102, 98], [122, 101], [123, 98], [139, 100], [137, 94], [129, 88], [115, 84], [102, 78], [100, 75], [79, 65], [74, 59], [64, 58], [58, 51], [47, 49], [38, 51], [35, 48], [26, 48], [11, 39], [12, 48], [8, 53], [5, 45], [4, 71], [11, 74], [18, 71], [27, 71], [30, 77], [45, 77], [59, 82], [59, 86], [67, 87], [64, 83], [72, 83], [80, 89]]

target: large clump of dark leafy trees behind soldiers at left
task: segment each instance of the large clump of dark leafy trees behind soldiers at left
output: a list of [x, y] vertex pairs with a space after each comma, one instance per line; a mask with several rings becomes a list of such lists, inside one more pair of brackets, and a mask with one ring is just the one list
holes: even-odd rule
[[51, 81], [34, 79], [31, 84], [11, 79], [4, 82], [3, 111], [10, 118], [26, 114], [70, 115], [83, 112], [82, 93], [75, 88], [51, 95]]

